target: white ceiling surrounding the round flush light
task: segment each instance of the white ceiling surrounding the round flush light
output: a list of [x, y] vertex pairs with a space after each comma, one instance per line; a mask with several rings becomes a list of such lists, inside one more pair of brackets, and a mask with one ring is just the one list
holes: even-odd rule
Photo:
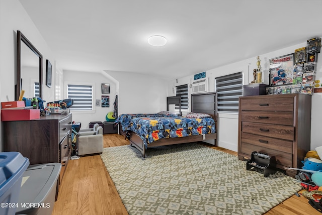
[[64, 70], [180, 78], [322, 36], [321, 0], [20, 2]]

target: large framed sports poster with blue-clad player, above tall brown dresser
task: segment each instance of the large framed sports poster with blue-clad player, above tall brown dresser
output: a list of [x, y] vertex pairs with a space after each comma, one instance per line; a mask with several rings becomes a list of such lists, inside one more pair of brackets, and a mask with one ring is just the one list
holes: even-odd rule
[[270, 59], [270, 85], [293, 83], [294, 53]]

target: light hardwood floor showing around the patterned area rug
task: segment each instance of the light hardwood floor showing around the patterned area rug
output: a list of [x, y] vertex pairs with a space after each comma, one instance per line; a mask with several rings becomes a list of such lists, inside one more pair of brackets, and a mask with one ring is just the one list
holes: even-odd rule
[[[104, 135], [104, 147], [128, 144], [121, 135]], [[221, 147], [211, 148], [237, 155]], [[307, 202], [303, 196], [293, 195], [266, 214], [320, 214]], [[52, 213], [64, 214], [128, 214], [100, 155], [69, 160]]]

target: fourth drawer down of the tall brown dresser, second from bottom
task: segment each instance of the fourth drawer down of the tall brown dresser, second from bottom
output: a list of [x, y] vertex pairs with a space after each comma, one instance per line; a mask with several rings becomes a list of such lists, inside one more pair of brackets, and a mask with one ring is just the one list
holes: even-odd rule
[[241, 144], [248, 143], [258, 145], [260, 147], [274, 149], [277, 151], [292, 154], [293, 142], [287, 140], [281, 140], [277, 138], [265, 137], [260, 135], [241, 133]]

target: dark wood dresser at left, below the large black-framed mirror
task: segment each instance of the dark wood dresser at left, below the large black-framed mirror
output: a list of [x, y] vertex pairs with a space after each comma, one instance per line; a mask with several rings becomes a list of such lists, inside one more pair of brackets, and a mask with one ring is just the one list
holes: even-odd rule
[[71, 154], [71, 125], [71, 114], [3, 122], [4, 150], [20, 152], [30, 164], [61, 163], [61, 181]]

